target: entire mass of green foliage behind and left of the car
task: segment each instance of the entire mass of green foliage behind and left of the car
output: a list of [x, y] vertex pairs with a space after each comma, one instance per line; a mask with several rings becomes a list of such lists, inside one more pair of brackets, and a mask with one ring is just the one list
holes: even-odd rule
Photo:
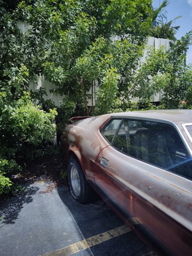
[[[56, 117], [60, 128], [73, 114], [154, 108], [150, 99], [158, 92], [164, 93], [159, 108], [191, 105], [191, 67], [185, 65], [191, 33], [174, 41], [178, 27], [164, 21], [168, 1], [157, 10], [152, 4], [0, 0], [0, 195], [12, 186], [5, 173], [20, 170], [17, 160], [32, 157], [39, 145], [53, 140], [54, 102], [46, 100], [45, 89], [30, 90], [41, 75], [63, 97]], [[20, 21], [26, 29], [19, 29]], [[140, 63], [151, 35], [173, 39], [171, 50], [149, 49]], [[132, 103], [135, 97], [138, 103]]]

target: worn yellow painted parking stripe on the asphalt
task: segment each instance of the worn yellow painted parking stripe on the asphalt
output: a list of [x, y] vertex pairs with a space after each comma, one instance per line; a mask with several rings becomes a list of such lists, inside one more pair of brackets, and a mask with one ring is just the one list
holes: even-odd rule
[[63, 247], [62, 249], [59, 249], [54, 252], [47, 252], [42, 256], [68, 256], [71, 254], [74, 254], [76, 252], [80, 252], [83, 250], [88, 249], [89, 247], [92, 247], [94, 245], [100, 244], [102, 242], [108, 241], [114, 237], [123, 235], [125, 233], [128, 233], [131, 231], [131, 228], [127, 227], [126, 225], [123, 225], [121, 227], [111, 229], [107, 232], [101, 233], [96, 236], [89, 237], [87, 239], [84, 239], [80, 242], [68, 245], [66, 247]]

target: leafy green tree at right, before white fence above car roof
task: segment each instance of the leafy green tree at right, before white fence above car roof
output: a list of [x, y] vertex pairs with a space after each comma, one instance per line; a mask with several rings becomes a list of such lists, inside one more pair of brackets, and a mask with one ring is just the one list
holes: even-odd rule
[[[146, 62], [141, 63], [132, 80], [132, 97], [150, 101], [154, 93], [163, 93], [161, 107], [191, 108], [192, 69], [186, 66], [186, 51], [192, 43], [192, 31], [165, 47], [150, 47]], [[185, 103], [184, 105], [181, 102]]]

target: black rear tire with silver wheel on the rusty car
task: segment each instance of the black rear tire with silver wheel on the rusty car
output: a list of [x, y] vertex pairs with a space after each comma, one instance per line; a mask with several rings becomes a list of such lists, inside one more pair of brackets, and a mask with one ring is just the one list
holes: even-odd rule
[[70, 159], [67, 174], [71, 196], [81, 204], [93, 201], [95, 192], [87, 182], [82, 167], [76, 158]]

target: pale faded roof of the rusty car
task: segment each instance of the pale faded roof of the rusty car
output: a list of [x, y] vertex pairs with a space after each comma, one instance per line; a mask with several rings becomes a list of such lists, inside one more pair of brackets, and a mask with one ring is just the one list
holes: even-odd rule
[[175, 124], [192, 123], [192, 109], [129, 111], [122, 113], [112, 113], [110, 116], [156, 119], [159, 121], [170, 121]]

